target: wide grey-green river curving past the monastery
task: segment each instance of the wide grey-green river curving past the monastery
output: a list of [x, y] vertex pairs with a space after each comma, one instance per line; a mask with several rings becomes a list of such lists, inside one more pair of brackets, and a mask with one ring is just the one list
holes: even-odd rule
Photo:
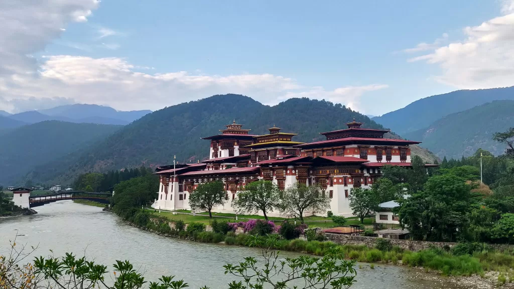
[[[207, 285], [212, 289], [227, 288], [236, 278], [224, 275], [223, 265], [237, 263], [246, 256], [257, 256], [255, 248], [204, 244], [158, 236], [120, 221], [102, 208], [58, 201], [35, 208], [38, 214], [0, 219], [0, 254], [9, 250], [9, 240], [16, 233], [17, 246], [38, 246], [35, 256], [62, 256], [74, 252], [106, 265], [115, 260], [130, 260], [144, 272], [145, 280], [157, 281], [162, 275], [175, 275], [192, 288]], [[281, 253], [295, 256], [291, 252]], [[362, 263], [357, 268], [353, 288], [445, 288], [460, 289], [445, 278], [394, 265]], [[109, 270], [112, 267], [109, 266]], [[436, 280], [434, 280], [436, 279]]]

